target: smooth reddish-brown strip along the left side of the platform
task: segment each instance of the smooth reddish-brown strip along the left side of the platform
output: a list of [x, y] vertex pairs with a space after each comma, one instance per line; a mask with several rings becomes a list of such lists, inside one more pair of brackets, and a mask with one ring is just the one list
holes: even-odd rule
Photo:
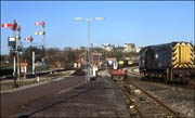
[[20, 107], [40, 101], [43, 97], [61, 91], [68, 90], [84, 82], [83, 76], [61, 77], [51, 81], [43, 81], [36, 84], [1, 92], [1, 117], [8, 117], [16, 113]]

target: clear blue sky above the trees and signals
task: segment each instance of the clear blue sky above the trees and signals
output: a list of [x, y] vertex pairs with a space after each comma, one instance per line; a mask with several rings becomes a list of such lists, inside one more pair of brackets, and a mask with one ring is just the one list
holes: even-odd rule
[[[75, 21], [74, 17], [84, 17]], [[44, 21], [47, 48], [87, 47], [88, 24], [92, 18], [90, 42], [135, 47], [194, 40], [193, 1], [1, 1], [1, 24], [21, 25], [22, 44], [29, 47], [24, 38], [34, 37], [34, 44], [41, 44], [41, 26]], [[104, 17], [95, 21], [94, 17]], [[1, 54], [8, 54], [8, 37], [12, 30], [1, 28]]]

